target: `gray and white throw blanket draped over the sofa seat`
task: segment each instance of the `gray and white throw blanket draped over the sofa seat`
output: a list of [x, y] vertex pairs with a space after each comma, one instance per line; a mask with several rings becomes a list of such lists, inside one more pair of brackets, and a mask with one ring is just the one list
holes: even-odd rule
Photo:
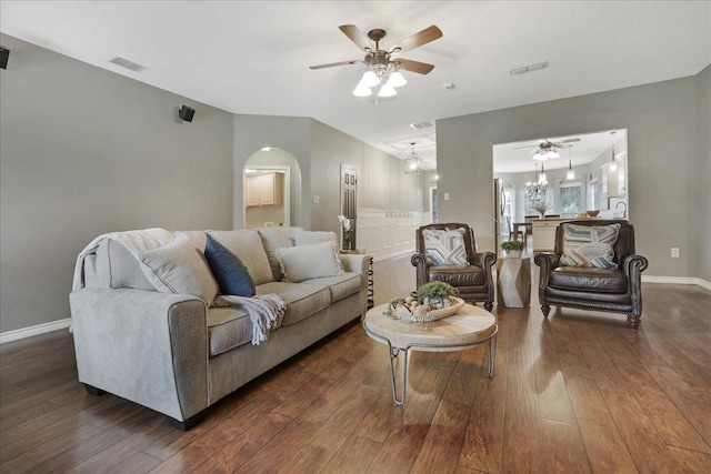
[[221, 294], [214, 299], [212, 305], [243, 307], [252, 320], [252, 345], [267, 341], [269, 332], [281, 326], [287, 311], [287, 302], [274, 293], [258, 294], [254, 297]]

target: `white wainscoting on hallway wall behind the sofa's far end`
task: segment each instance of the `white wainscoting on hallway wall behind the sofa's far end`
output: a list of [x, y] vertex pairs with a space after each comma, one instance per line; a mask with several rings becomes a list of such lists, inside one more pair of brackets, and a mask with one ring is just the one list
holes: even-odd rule
[[359, 209], [357, 248], [374, 261], [413, 252], [414, 233], [429, 221], [429, 212]]

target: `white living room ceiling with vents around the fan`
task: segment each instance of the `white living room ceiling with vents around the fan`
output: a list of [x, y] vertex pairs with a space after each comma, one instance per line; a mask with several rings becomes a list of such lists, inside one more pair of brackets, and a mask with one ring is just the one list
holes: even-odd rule
[[[435, 68], [405, 71], [394, 100], [356, 98], [362, 64], [309, 69], [362, 59], [340, 24], [387, 30], [383, 49], [437, 24], [441, 39], [402, 54]], [[233, 113], [311, 117], [400, 158], [415, 142], [429, 168], [434, 132], [410, 123], [692, 75], [711, 62], [710, 1], [2, 0], [0, 30]], [[108, 62], [117, 56], [147, 69]], [[542, 61], [548, 69], [509, 73]]]

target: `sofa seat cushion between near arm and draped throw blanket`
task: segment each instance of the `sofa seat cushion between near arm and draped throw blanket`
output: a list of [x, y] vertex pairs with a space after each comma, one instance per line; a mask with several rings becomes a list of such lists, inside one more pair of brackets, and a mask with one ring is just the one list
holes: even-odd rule
[[220, 355], [252, 342], [252, 320], [238, 306], [208, 310], [208, 340], [210, 356]]

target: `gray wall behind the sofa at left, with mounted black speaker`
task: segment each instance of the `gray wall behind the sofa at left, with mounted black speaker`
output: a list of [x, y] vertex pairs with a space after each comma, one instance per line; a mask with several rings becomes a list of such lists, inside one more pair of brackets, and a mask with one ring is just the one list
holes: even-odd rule
[[232, 114], [1, 42], [0, 332], [69, 317], [77, 254], [101, 233], [231, 226]]

